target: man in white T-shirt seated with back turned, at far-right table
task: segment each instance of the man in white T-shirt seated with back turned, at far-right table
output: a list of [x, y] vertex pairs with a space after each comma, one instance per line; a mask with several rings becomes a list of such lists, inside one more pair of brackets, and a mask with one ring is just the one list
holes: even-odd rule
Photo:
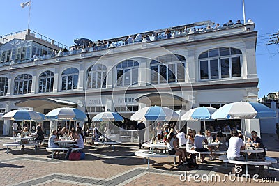
[[229, 139], [229, 148], [227, 149], [227, 160], [243, 161], [244, 157], [240, 154], [241, 148], [245, 148], [241, 138], [239, 138], [239, 132], [234, 130], [233, 137]]

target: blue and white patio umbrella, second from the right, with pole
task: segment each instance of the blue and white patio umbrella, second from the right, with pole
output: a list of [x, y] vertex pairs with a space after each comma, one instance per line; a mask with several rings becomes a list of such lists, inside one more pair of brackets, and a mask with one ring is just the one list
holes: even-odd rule
[[211, 115], [216, 111], [213, 107], [197, 107], [190, 109], [181, 117], [184, 121], [204, 121], [204, 131], [206, 130], [205, 121], [212, 120]]

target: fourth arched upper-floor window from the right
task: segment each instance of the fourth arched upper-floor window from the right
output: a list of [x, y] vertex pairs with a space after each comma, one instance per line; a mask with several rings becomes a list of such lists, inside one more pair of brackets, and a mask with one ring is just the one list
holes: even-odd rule
[[105, 88], [107, 82], [107, 68], [105, 65], [92, 65], [87, 70], [86, 88]]

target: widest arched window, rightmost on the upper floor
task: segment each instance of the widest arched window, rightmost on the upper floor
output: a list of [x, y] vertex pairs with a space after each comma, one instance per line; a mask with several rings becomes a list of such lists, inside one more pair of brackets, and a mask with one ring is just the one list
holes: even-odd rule
[[209, 49], [199, 55], [201, 80], [241, 77], [242, 52], [239, 49], [222, 47]]

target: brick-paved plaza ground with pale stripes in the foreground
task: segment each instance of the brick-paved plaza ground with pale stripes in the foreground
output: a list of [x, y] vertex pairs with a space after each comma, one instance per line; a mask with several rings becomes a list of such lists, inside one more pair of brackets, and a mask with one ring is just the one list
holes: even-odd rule
[[[276, 135], [265, 134], [262, 139], [268, 148], [266, 154], [279, 161]], [[115, 151], [110, 146], [89, 144], [84, 148], [85, 160], [69, 161], [63, 157], [51, 160], [51, 153], [45, 150], [47, 144], [36, 152], [33, 148], [23, 152], [12, 147], [6, 154], [2, 146], [6, 142], [12, 142], [10, 137], [0, 138], [0, 185], [278, 185], [279, 181], [279, 164], [272, 164], [270, 173], [267, 167], [261, 172], [257, 167], [249, 170], [251, 179], [246, 181], [240, 176], [225, 177], [232, 171], [232, 165], [226, 168], [219, 160], [207, 164], [198, 162], [198, 169], [187, 166], [178, 169], [173, 157], [151, 158], [150, 169], [147, 169], [144, 158], [134, 155], [139, 150], [136, 144], [119, 144]], [[259, 177], [253, 180], [255, 174]], [[199, 175], [199, 181], [190, 175]], [[220, 180], [214, 180], [216, 175]], [[262, 183], [264, 179], [275, 179], [276, 183]]]

